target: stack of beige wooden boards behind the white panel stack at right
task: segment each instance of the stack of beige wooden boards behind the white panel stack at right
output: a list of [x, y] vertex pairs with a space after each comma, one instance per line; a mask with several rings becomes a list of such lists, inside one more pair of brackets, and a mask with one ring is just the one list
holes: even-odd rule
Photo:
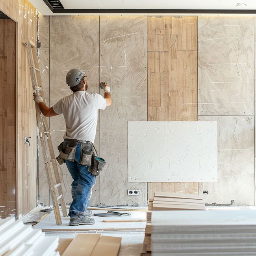
[[154, 211], [175, 210], [205, 210], [204, 201], [200, 195], [155, 192], [154, 198], [149, 199], [147, 211], [147, 225], [145, 238], [141, 249], [141, 256], [151, 255], [151, 216]]

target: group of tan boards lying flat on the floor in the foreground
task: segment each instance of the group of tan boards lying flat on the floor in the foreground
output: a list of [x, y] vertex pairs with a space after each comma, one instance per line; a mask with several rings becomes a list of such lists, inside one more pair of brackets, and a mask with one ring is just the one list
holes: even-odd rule
[[74, 239], [60, 239], [61, 256], [118, 256], [121, 237], [78, 234]]

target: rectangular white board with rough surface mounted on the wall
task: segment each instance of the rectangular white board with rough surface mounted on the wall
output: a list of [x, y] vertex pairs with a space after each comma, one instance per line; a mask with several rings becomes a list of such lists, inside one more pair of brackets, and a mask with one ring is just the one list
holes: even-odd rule
[[129, 182], [217, 182], [217, 122], [128, 122]]

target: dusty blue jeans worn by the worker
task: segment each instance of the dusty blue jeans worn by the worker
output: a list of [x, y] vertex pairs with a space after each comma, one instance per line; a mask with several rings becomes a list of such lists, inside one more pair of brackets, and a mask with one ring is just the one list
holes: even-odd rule
[[90, 202], [92, 194], [91, 190], [96, 183], [96, 176], [87, 171], [89, 166], [80, 164], [80, 158], [81, 144], [78, 143], [76, 147], [75, 161], [71, 162], [65, 160], [69, 173], [74, 180], [71, 184], [73, 201], [69, 208], [70, 218], [75, 215], [85, 214]]

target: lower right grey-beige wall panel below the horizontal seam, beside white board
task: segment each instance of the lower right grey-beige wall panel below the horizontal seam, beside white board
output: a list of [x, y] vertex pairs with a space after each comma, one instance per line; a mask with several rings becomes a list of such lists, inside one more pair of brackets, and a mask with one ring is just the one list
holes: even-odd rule
[[[205, 203], [254, 205], [254, 117], [200, 116], [218, 123], [218, 182], [200, 182]], [[246, 134], [246, 136], [245, 136]]]

